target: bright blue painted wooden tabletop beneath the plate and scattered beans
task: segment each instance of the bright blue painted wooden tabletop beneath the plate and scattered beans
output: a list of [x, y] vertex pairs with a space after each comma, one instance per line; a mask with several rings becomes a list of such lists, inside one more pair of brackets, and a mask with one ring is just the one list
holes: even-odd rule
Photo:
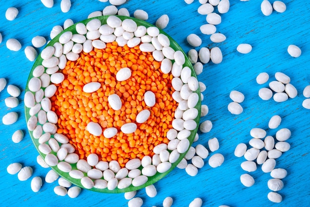
[[[212, 43], [208, 35], [203, 35], [199, 27], [206, 23], [206, 16], [200, 15], [197, 8], [200, 3], [195, 0], [186, 4], [183, 0], [128, 0], [120, 7], [129, 9], [132, 15], [136, 9], [144, 9], [149, 13], [150, 23], [162, 14], [168, 14], [170, 22], [164, 29], [173, 37], [187, 53], [192, 47], [186, 42], [187, 35], [198, 34], [204, 47], [219, 47], [223, 53], [223, 62], [219, 65], [208, 63], [198, 76], [207, 85], [203, 92], [209, 114], [201, 121], [210, 120], [212, 130], [201, 134], [197, 142], [207, 146], [209, 138], [218, 138], [220, 148], [215, 151], [225, 157], [224, 163], [218, 168], [211, 168], [205, 160], [205, 166], [199, 169], [198, 175], [191, 177], [185, 170], [174, 169], [168, 176], [155, 183], [157, 196], [149, 198], [145, 190], [138, 191], [137, 196], [144, 200], [145, 207], [162, 206], [165, 197], [173, 198], [174, 207], [186, 207], [197, 197], [202, 198], [204, 207], [306, 207], [310, 206], [310, 110], [302, 107], [305, 99], [303, 89], [310, 84], [310, 3], [303, 0], [283, 0], [287, 5], [284, 13], [273, 11], [270, 16], [264, 16], [260, 11], [261, 0], [240, 1], [231, 0], [228, 13], [222, 14], [222, 23], [217, 25], [217, 31], [226, 35], [222, 43]], [[0, 77], [5, 77], [8, 84], [17, 85], [22, 93], [18, 97], [18, 107], [9, 109], [4, 99], [9, 95], [6, 89], [0, 92], [0, 117], [7, 112], [19, 114], [18, 121], [11, 126], [0, 123], [0, 206], [10, 207], [126, 207], [128, 201], [123, 194], [101, 194], [82, 190], [76, 199], [68, 196], [56, 196], [53, 188], [57, 182], [45, 183], [38, 193], [31, 191], [30, 182], [19, 181], [17, 175], [9, 175], [6, 167], [12, 162], [20, 162], [23, 166], [34, 169], [33, 176], [43, 178], [49, 168], [42, 168], [36, 162], [38, 152], [27, 132], [24, 118], [23, 95], [26, 81], [33, 62], [26, 59], [23, 50], [31, 45], [31, 39], [40, 35], [49, 39], [50, 31], [55, 25], [62, 25], [64, 20], [71, 18], [74, 22], [86, 19], [88, 14], [103, 10], [109, 5], [99, 0], [72, 0], [69, 12], [62, 13], [60, 0], [54, 0], [52, 8], [45, 7], [40, 0], [1, 0], [0, 33], [3, 41], [0, 43]], [[8, 7], [17, 7], [19, 14], [13, 21], [5, 19], [4, 13]], [[9, 51], [5, 42], [16, 38], [22, 44], [18, 52]], [[240, 43], [253, 46], [250, 54], [240, 54], [236, 51]], [[292, 58], [287, 53], [290, 44], [299, 46], [302, 55]], [[199, 48], [196, 48], [197, 50]], [[42, 48], [38, 49], [40, 52]], [[291, 83], [297, 88], [298, 96], [282, 103], [272, 99], [263, 101], [258, 97], [258, 90], [264, 85], [256, 83], [259, 72], [267, 72], [270, 81], [274, 73], [281, 71], [291, 77]], [[245, 101], [241, 103], [244, 112], [232, 115], [227, 110], [231, 100], [231, 90], [244, 93]], [[280, 128], [288, 128], [292, 137], [288, 139], [291, 149], [278, 158], [276, 167], [285, 168], [288, 176], [283, 179], [284, 189], [279, 191], [283, 197], [280, 204], [271, 203], [267, 199], [270, 191], [267, 181], [269, 173], [263, 173], [258, 166], [257, 171], [250, 173], [255, 178], [254, 186], [247, 188], [240, 183], [240, 175], [246, 173], [240, 167], [243, 157], [234, 156], [234, 149], [240, 142], [248, 143], [251, 139], [250, 130], [255, 127], [266, 129], [267, 134], [274, 136], [276, 130], [268, 128], [268, 121], [273, 115], [280, 115]], [[13, 132], [23, 130], [24, 139], [19, 143], [11, 140]], [[212, 152], [210, 154], [213, 154]]]

